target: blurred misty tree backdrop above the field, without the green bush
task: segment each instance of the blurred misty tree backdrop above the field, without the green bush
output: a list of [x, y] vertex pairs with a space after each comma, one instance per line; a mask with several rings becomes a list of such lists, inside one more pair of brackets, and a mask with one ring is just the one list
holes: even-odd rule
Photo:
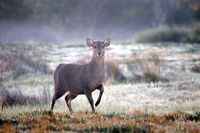
[[127, 40], [147, 28], [191, 28], [199, 20], [199, 0], [1, 0], [0, 41]]

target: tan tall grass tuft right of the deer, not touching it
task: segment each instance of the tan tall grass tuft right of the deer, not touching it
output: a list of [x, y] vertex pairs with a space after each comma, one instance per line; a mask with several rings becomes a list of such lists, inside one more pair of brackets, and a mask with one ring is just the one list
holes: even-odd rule
[[156, 83], [159, 81], [168, 81], [167, 77], [162, 74], [163, 61], [160, 59], [159, 55], [155, 52], [149, 52], [145, 56], [140, 56], [134, 54], [134, 66], [128, 63], [129, 69], [138, 68], [136, 70], [131, 70], [133, 74], [133, 81], [135, 82], [147, 82]]

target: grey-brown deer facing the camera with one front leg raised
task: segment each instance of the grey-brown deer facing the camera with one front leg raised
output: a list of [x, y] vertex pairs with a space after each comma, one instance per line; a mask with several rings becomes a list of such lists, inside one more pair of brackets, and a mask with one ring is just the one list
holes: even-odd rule
[[54, 72], [54, 95], [51, 103], [51, 111], [53, 111], [55, 102], [64, 94], [65, 102], [71, 113], [71, 101], [78, 95], [86, 95], [91, 109], [95, 112], [92, 92], [99, 90], [99, 97], [95, 103], [98, 106], [104, 92], [105, 77], [105, 48], [111, 43], [111, 39], [104, 41], [93, 41], [86, 39], [88, 47], [93, 49], [92, 59], [87, 64], [60, 64]]

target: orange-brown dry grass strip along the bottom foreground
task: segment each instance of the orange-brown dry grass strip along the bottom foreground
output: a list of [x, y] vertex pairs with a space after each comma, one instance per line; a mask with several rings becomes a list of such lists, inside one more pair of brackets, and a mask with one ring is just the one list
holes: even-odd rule
[[[198, 132], [198, 113], [146, 114], [136, 110], [123, 113], [77, 112], [72, 115], [49, 111], [23, 112], [10, 117], [0, 114], [0, 131], [18, 132]], [[4, 114], [5, 115], [5, 114]]]

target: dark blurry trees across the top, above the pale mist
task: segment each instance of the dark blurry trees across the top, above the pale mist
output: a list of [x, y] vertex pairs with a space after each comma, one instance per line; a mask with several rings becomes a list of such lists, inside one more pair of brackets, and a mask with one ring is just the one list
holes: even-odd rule
[[[61, 24], [68, 28], [70, 26], [77, 27], [79, 21], [84, 26], [88, 26], [88, 24], [112, 26], [115, 23], [116, 26], [123, 24], [128, 25], [128, 28], [138, 26], [142, 28], [162, 23], [188, 24], [192, 20], [200, 19], [199, 1], [190, 0], [89, 0], [84, 2], [82, 0], [60, 0], [59, 2], [54, 0], [15, 0], [1, 1], [0, 7], [0, 18], [4, 20], [17, 19], [22, 22], [30, 20], [44, 24], [48, 22]], [[78, 20], [74, 17], [77, 15]], [[95, 23], [88, 19], [96, 18], [97, 15], [100, 17]]]

